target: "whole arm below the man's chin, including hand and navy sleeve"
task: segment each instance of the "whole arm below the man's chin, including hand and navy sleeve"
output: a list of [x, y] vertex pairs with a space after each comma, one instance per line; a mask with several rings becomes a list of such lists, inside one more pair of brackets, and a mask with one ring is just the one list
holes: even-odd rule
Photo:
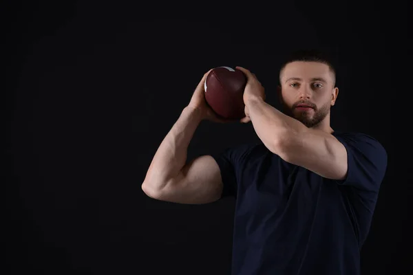
[[[335, 137], [310, 129], [265, 102], [264, 87], [243, 67], [246, 117], [264, 145], [286, 162], [335, 179], [337, 184], [377, 190], [387, 167], [387, 153], [377, 140], [363, 134]], [[339, 138], [340, 140], [338, 140]]]

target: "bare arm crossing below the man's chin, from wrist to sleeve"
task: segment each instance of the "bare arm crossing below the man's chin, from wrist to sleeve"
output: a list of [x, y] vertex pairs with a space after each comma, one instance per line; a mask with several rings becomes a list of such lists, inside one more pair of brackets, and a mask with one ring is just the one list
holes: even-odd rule
[[346, 178], [346, 147], [334, 135], [309, 129], [262, 98], [251, 97], [246, 101], [246, 107], [255, 132], [271, 152], [322, 177]]

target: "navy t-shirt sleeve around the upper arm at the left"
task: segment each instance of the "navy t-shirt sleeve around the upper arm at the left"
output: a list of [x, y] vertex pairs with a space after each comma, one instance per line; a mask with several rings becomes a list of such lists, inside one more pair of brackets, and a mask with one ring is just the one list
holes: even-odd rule
[[221, 198], [237, 197], [237, 183], [240, 177], [240, 170], [244, 165], [249, 148], [251, 148], [251, 145], [245, 144], [226, 148], [220, 153], [211, 155], [220, 167], [222, 183], [224, 184]]

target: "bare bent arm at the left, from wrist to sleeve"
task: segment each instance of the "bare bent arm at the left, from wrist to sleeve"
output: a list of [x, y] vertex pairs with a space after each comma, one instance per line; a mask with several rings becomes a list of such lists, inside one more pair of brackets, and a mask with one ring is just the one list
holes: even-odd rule
[[186, 107], [153, 157], [142, 190], [149, 197], [176, 203], [209, 203], [222, 195], [220, 167], [210, 155], [188, 164], [187, 149], [202, 112]]

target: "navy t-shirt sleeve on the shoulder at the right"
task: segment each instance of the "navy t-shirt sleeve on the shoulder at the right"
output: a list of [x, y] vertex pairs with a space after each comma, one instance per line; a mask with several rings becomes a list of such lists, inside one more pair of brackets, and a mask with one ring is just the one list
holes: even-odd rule
[[348, 173], [338, 184], [363, 191], [378, 192], [387, 168], [385, 148], [373, 137], [362, 133], [336, 135], [347, 151]]

